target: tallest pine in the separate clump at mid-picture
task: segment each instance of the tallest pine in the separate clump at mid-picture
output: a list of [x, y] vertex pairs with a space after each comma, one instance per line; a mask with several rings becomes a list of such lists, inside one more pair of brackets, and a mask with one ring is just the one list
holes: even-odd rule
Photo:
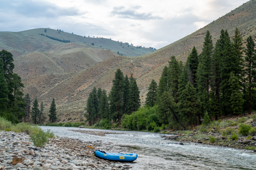
[[120, 69], [115, 72], [113, 86], [110, 91], [110, 112], [113, 113], [113, 120], [119, 120], [121, 125], [121, 112], [123, 101], [124, 74]]

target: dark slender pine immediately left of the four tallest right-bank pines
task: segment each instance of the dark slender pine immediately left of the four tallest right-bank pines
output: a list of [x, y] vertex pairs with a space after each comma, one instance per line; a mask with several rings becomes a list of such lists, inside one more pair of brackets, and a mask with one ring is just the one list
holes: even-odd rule
[[193, 77], [194, 87], [196, 87], [196, 80], [197, 80], [197, 67], [198, 67], [198, 52], [195, 46], [193, 47], [191, 53], [187, 58], [189, 69], [191, 70], [191, 74]]

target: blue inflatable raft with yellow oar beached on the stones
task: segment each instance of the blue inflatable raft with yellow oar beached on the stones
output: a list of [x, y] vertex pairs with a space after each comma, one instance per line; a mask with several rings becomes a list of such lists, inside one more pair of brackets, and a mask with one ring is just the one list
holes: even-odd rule
[[116, 162], [132, 162], [137, 159], [137, 153], [106, 153], [104, 151], [96, 150], [94, 151], [94, 155], [98, 158], [109, 160], [109, 161], [116, 161]]

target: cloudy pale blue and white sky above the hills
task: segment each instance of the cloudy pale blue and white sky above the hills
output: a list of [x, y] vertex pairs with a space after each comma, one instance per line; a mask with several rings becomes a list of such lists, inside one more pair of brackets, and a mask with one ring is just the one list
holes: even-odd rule
[[161, 48], [248, 0], [0, 0], [0, 31], [61, 29]]

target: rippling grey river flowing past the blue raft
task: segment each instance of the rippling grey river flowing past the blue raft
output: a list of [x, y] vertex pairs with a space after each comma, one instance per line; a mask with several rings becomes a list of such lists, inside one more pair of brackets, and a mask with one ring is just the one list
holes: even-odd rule
[[208, 146], [193, 142], [163, 140], [159, 133], [113, 131], [100, 129], [81, 129], [89, 131], [109, 131], [124, 134], [106, 134], [95, 136], [79, 132], [68, 131], [68, 127], [41, 126], [46, 131], [50, 129], [55, 135], [81, 139], [84, 141], [113, 142], [114, 147], [108, 152], [137, 153], [138, 158], [131, 165], [133, 170], [233, 170], [256, 169], [256, 154], [246, 150]]

